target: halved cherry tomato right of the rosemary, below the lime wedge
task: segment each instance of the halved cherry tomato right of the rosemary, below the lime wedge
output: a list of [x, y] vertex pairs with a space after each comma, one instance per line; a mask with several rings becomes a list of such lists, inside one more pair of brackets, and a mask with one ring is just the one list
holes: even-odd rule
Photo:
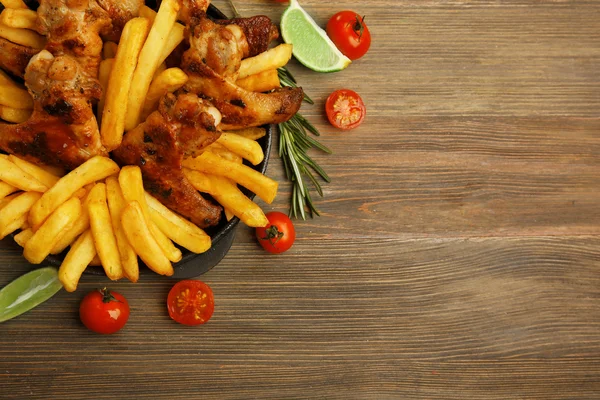
[[359, 126], [367, 114], [358, 93], [349, 89], [331, 93], [325, 102], [325, 111], [331, 125], [344, 130]]

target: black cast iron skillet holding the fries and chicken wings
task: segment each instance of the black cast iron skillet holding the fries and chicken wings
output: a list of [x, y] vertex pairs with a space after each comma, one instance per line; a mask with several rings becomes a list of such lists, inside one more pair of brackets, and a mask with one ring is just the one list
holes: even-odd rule
[[[150, 5], [151, 2], [148, 1], [146, 3]], [[2, 8], [2, 4], [0, 3], [0, 10]], [[212, 4], [208, 8], [207, 15], [213, 19], [227, 19], [227, 16]], [[267, 171], [267, 164], [269, 161], [269, 154], [271, 153], [271, 144], [276, 126], [268, 125], [265, 126], [265, 128], [267, 130], [266, 135], [258, 140], [258, 143], [260, 144], [260, 147], [262, 147], [265, 154], [265, 159], [260, 164], [251, 166], [262, 174]], [[254, 193], [246, 190], [245, 188], [241, 188], [241, 190], [250, 199], [254, 199]], [[206, 233], [208, 233], [212, 239], [212, 246], [205, 253], [195, 254], [187, 249], [181, 248], [183, 257], [181, 261], [173, 263], [173, 269], [175, 272], [171, 278], [193, 278], [206, 273], [215, 265], [217, 265], [231, 248], [231, 244], [235, 238], [235, 228], [239, 222], [240, 220], [237, 217], [232, 218], [231, 221], [227, 221], [224, 217], [222, 217], [221, 222], [217, 226], [206, 229]], [[58, 267], [60, 264], [62, 264], [62, 260], [64, 259], [66, 253], [67, 252], [65, 251], [61, 254], [50, 255], [46, 258], [45, 263]], [[147, 274], [151, 272], [141, 262], [140, 267], [140, 274]], [[102, 267], [90, 266], [85, 270], [85, 272], [94, 275], [105, 275]]]

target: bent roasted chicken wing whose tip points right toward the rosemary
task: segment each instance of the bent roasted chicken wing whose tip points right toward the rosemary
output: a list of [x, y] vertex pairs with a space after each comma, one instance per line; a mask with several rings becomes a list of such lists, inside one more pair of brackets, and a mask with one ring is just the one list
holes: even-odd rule
[[248, 51], [245, 34], [239, 26], [219, 25], [204, 17], [188, 28], [190, 49], [184, 53], [181, 66], [189, 76], [184, 90], [199, 94], [215, 105], [222, 114], [221, 129], [277, 124], [298, 111], [303, 98], [301, 88], [254, 93], [228, 79], [235, 75], [229, 66], [239, 68], [239, 62], [247, 54], [244, 52]]

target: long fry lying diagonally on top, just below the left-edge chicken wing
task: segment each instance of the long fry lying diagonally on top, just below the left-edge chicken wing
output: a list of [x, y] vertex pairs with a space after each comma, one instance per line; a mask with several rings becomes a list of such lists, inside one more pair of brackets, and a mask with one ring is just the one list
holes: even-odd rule
[[29, 223], [34, 230], [56, 210], [59, 205], [73, 196], [79, 189], [92, 182], [106, 178], [119, 172], [119, 166], [110, 158], [93, 157], [52, 186], [42, 198], [34, 204], [29, 212]]

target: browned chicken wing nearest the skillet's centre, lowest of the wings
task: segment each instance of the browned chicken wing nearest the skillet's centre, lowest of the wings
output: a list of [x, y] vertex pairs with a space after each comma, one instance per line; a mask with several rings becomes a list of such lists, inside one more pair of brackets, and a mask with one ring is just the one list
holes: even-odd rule
[[217, 140], [219, 112], [193, 94], [167, 94], [158, 111], [127, 132], [113, 156], [139, 165], [145, 189], [201, 228], [216, 225], [221, 207], [204, 199], [183, 174], [181, 162]]

